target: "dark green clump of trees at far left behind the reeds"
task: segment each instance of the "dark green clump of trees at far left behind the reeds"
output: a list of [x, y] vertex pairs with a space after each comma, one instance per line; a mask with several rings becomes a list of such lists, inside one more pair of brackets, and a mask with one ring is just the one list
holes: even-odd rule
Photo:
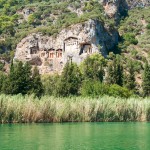
[[29, 63], [11, 63], [10, 73], [0, 75], [0, 91], [5, 94], [32, 94], [40, 97], [43, 93], [43, 86], [38, 68], [31, 71]]

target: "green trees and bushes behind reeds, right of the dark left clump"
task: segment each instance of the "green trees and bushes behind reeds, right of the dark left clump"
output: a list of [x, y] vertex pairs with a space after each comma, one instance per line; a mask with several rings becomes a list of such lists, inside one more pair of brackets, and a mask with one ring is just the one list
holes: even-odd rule
[[[99, 54], [87, 57], [80, 66], [67, 63], [60, 76], [43, 77], [44, 92], [53, 96], [103, 96], [128, 98], [150, 96], [150, 64], [144, 67], [142, 87], [138, 89], [135, 69], [130, 62], [128, 72], [120, 55], [106, 60]], [[51, 86], [53, 85], [53, 87]]]

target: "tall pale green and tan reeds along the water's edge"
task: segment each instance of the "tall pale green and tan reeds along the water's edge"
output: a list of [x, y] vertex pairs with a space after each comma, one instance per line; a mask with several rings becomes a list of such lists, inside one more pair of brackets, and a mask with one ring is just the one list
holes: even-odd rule
[[150, 121], [150, 98], [0, 95], [0, 123]]

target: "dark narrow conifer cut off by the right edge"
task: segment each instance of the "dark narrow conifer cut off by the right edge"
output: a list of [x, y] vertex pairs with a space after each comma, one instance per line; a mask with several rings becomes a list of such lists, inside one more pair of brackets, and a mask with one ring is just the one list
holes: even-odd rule
[[146, 62], [144, 68], [142, 88], [143, 95], [150, 96], [150, 65], [148, 64], [148, 62]]

